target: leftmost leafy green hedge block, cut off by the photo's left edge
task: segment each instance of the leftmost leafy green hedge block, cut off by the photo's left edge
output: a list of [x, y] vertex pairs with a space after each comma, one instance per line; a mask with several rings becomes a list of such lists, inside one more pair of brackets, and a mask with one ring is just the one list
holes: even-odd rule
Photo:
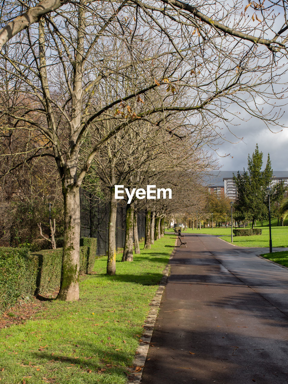
[[0, 312], [34, 294], [37, 265], [27, 248], [0, 247]]

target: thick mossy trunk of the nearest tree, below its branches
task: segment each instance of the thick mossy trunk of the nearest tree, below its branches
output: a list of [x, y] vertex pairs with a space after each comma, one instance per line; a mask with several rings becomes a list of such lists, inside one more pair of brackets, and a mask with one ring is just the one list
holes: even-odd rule
[[80, 198], [79, 187], [63, 187], [64, 244], [60, 291], [57, 299], [79, 300]]

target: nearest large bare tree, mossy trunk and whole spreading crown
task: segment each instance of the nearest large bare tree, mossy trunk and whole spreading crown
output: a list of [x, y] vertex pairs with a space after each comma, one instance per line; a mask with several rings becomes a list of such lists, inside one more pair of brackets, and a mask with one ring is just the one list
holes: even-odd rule
[[[6, 4], [6, 10], [12, 10], [11, 4]], [[223, 111], [229, 112], [233, 103], [265, 122], [275, 122], [270, 111], [265, 115], [258, 104], [253, 108], [247, 98], [258, 94], [266, 105], [271, 102], [268, 87], [280, 77], [281, 71], [275, 74], [273, 67], [275, 61], [281, 65], [285, 43], [279, 37], [282, 32], [271, 40], [250, 34], [261, 30], [264, 35], [271, 25], [251, 27], [247, 24], [247, 13], [243, 13], [240, 22], [233, 19], [232, 27], [217, 21], [217, 17], [223, 23], [231, 20], [232, 15], [238, 14], [240, 3], [221, 18], [221, 3], [202, 6], [207, 12], [210, 7], [211, 17], [176, 0], [165, 2], [164, 8], [125, 0], [81, 0], [61, 8], [57, 2], [52, 8], [49, 2], [36, 7], [22, 2], [20, 7], [14, 7], [15, 4], [13, 12], [22, 7], [26, 13], [22, 15], [20, 10], [21, 16], [0, 32], [2, 43], [15, 36], [10, 48], [1, 52], [0, 70], [24, 81], [25, 86], [18, 88], [18, 93], [29, 95], [33, 108], [2, 113], [12, 118], [13, 129], [33, 128], [45, 137], [30, 157], [47, 156], [56, 161], [65, 206], [58, 298], [77, 300], [79, 187], [99, 148], [116, 132], [131, 129], [138, 119], [149, 121], [155, 129], [162, 125], [174, 135], [174, 127], [166, 124], [174, 112], [185, 117], [192, 127], [213, 130], [217, 119], [227, 122]], [[50, 13], [51, 10], [55, 12]], [[262, 6], [255, 12], [262, 12]], [[41, 15], [44, 17], [40, 18]], [[2, 18], [8, 20], [5, 10]], [[23, 25], [31, 25], [35, 20], [38, 25], [17, 35]], [[121, 87], [119, 76], [123, 79]], [[113, 88], [109, 102], [101, 97], [108, 85]], [[178, 102], [174, 103], [176, 95]], [[105, 120], [113, 124], [111, 131], [101, 136], [98, 126]], [[96, 139], [93, 146], [86, 139], [88, 131]], [[210, 136], [211, 131], [203, 140]]]

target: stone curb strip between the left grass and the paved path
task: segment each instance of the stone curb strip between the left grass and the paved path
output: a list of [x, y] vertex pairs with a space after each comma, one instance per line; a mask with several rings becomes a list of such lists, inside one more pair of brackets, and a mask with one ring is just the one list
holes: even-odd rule
[[[162, 276], [162, 279], [159, 283], [158, 290], [157, 290], [154, 298], [152, 299], [152, 301], [150, 303], [151, 309], [148, 313], [147, 319], [145, 320], [144, 333], [141, 336], [142, 341], [139, 344], [139, 347], [137, 348], [137, 351], [135, 353], [133, 366], [131, 367], [131, 373], [129, 373], [129, 377], [128, 377], [129, 381], [127, 381], [127, 384], [139, 384], [141, 381], [143, 367], [144, 367], [147, 353], [148, 353], [148, 349], [150, 346], [151, 337], [152, 337], [152, 333], [153, 333], [154, 326], [155, 326], [155, 321], [157, 318], [159, 306], [160, 306], [161, 299], [162, 299], [162, 294], [163, 294], [163, 291], [164, 291], [164, 288], [166, 285], [166, 281], [167, 281], [167, 278], [169, 275], [169, 271], [170, 271], [169, 263], [170, 263], [170, 260], [172, 260], [172, 257], [174, 256], [175, 247], [177, 245], [177, 240], [178, 240], [178, 238], [175, 239], [174, 250], [172, 251], [170, 258], [169, 258], [169, 262], [163, 271], [163, 276]], [[136, 370], [138, 372], [135, 372]]]

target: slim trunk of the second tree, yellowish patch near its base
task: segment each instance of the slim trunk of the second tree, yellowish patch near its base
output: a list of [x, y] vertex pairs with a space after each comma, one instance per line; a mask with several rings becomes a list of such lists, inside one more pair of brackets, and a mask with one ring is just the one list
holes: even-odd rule
[[110, 192], [110, 212], [109, 212], [109, 227], [108, 227], [108, 260], [107, 260], [107, 275], [115, 275], [116, 273], [116, 215], [117, 215], [117, 200], [115, 199], [115, 187], [111, 188]]

